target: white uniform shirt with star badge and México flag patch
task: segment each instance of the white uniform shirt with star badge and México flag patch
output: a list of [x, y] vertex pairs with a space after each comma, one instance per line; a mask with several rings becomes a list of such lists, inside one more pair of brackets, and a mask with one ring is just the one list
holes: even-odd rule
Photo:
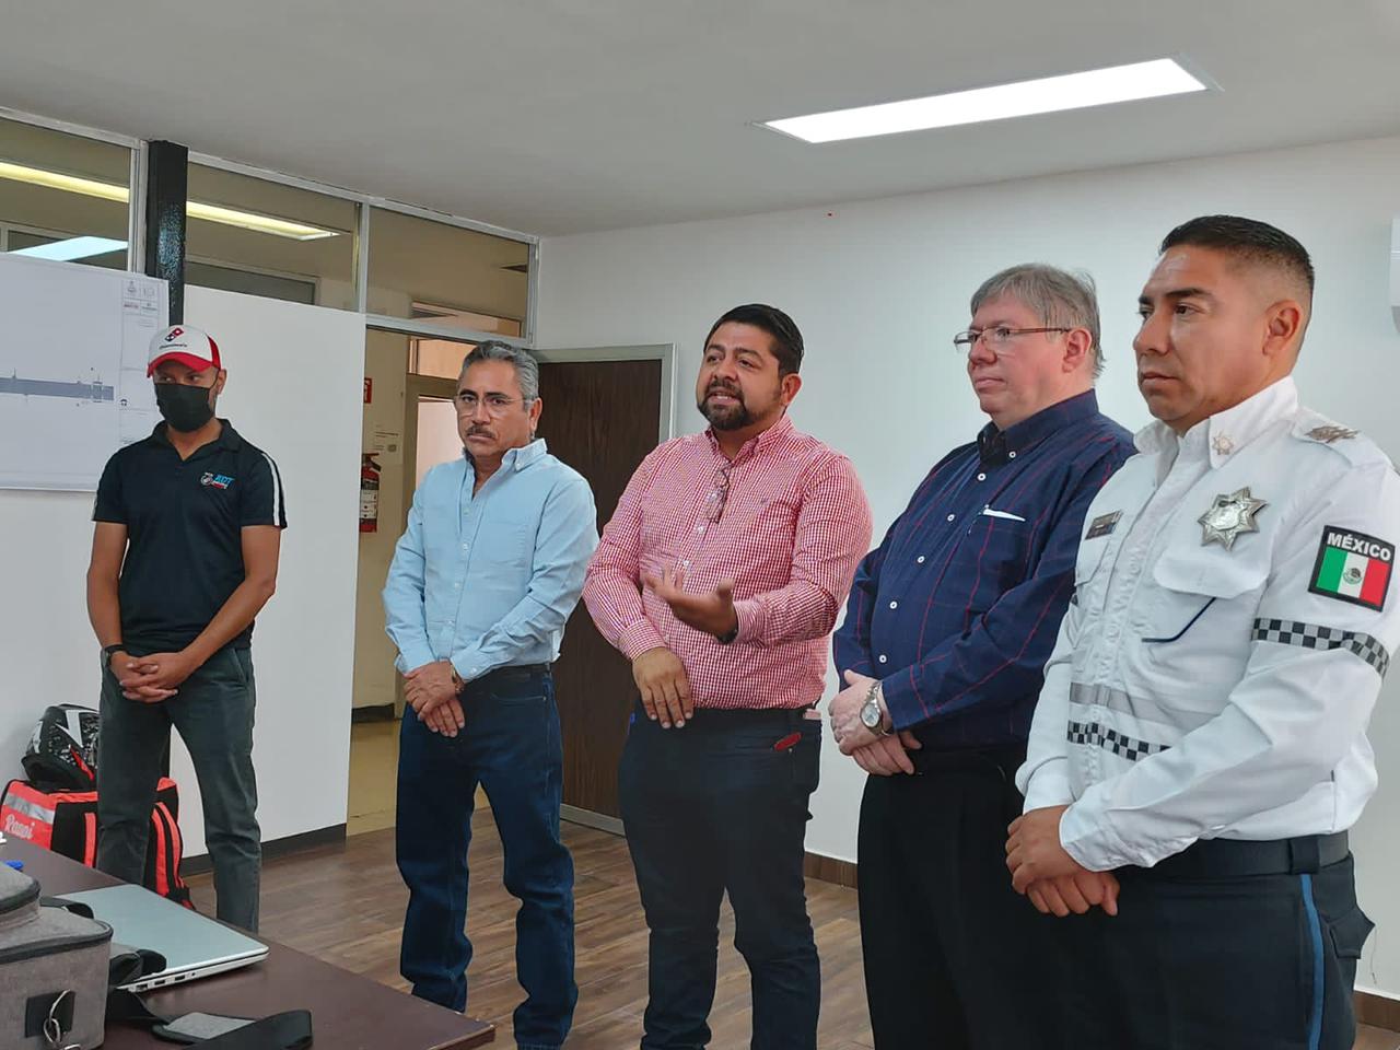
[[1345, 830], [1376, 787], [1366, 722], [1400, 643], [1400, 477], [1292, 379], [1135, 444], [1085, 518], [1025, 808], [1070, 805], [1061, 843], [1095, 871]]

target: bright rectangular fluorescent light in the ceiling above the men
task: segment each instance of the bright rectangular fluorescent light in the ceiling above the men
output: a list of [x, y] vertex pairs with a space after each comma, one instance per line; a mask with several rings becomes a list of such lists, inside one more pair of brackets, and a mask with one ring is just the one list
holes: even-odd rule
[[1156, 59], [904, 102], [766, 120], [763, 127], [808, 143], [833, 143], [1205, 90], [1205, 83], [1187, 73], [1175, 59]]

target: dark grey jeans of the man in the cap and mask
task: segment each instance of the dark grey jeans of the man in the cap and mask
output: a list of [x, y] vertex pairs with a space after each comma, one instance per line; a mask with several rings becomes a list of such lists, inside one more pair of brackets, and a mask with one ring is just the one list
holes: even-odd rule
[[127, 700], [116, 676], [104, 671], [97, 764], [97, 867], [140, 885], [161, 756], [175, 727], [199, 778], [218, 917], [249, 931], [258, 930], [262, 868], [252, 757], [255, 701], [249, 650], [216, 652], [158, 704]]

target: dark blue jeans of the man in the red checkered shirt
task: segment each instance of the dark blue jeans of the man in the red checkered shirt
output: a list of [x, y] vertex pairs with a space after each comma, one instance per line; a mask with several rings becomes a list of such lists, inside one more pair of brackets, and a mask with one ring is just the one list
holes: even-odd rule
[[651, 934], [643, 1050], [708, 1044], [725, 893], [753, 1050], [815, 1050], [822, 972], [802, 847], [820, 745], [820, 721], [801, 711], [701, 708], [680, 729], [636, 717], [617, 792]]

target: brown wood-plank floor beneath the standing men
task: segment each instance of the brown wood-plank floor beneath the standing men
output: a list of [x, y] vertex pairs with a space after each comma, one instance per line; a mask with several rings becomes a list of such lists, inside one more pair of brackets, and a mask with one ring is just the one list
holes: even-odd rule
[[[574, 854], [578, 925], [578, 1009], [570, 1050], [624, 1050], [641, 1037], [647, 1005], [647, 930], [626, 843], [564, 825]], [[470, 853], [468, 932], [476, 946], [469, 973], [472, 1016], [498, 1026], [496, 1046], [512, 1046], [515, 900], [501, 886], [501, 847], [490, 812], [479, 812]], [[213, 911], [207, 875], [190, 879], [195, 900]], [[399, 930], [407, 893], [393, 865], [393, 830], [357, 834], [328, 847], [269, 861], [263, 872], [262, 932], [347, 970], [403, 988]], [[855, 892], [808, 881], [822, 955], [822, 1050], [872, 1046], [861, 979]], [[720, 986], [710, 1025], [715, 1050], [749, 1044], [749, 984], [734, 951], [734, 916], [720, 928]], [[1400, 1050], [1400, 1035], [1366, 1029], [1357, 1050]]]

